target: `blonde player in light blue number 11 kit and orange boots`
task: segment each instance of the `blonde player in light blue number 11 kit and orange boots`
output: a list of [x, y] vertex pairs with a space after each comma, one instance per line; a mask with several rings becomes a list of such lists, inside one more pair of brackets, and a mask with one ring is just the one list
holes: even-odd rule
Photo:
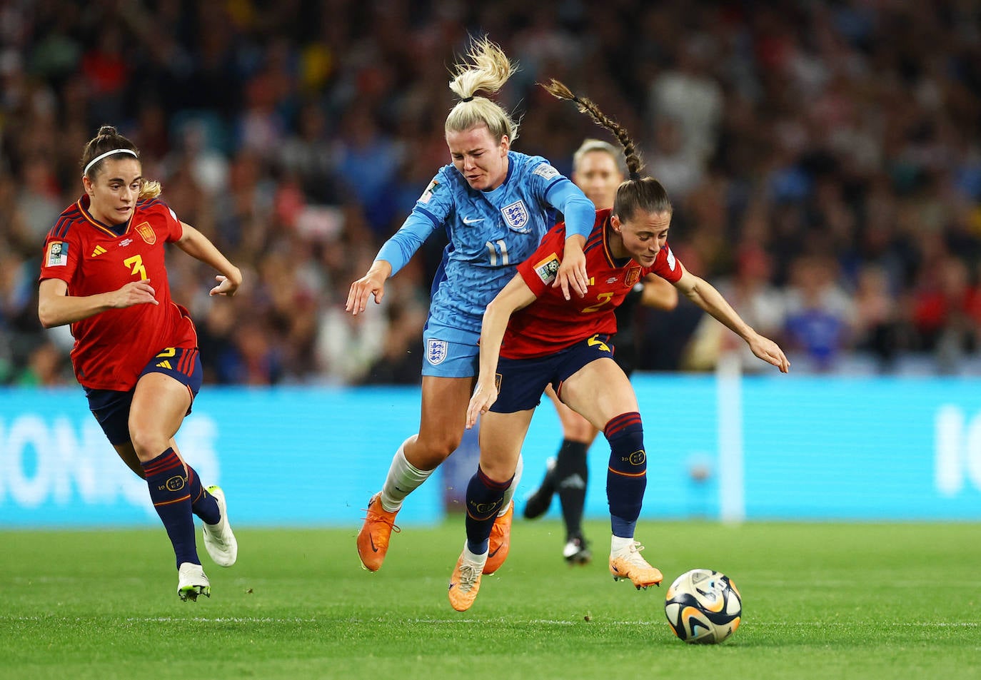
[[[458, 65], [449, 88], [460, 101], [445, 122], [452, 163], [441, 168], [401, 228], [379, 251], [363, 277], [351, 284], [346, 309], [364, 312], [369, 296], [381, 302], [385, 281], [403, 267], [426, 238], [445, 229], [449, 244], [433, 281], [430, 314], [423, 334], [422, 417], [418, 434], [406, 439], [391, 461], [382, 491], [372, 496], [358, 532], [361, 563], [382, 566], [395, 514], [402, 501], [460, 445], [467, 402], [477, 374], [481, 316], [490, 299], [542, 240], [560, 211], [569, 228], [556, 285], [563, 297], [585, 295], [586, 258], [582, 246], [593, 227], [594, 206], [568, 178], [539, 156], [511, 150], [518, 124], [478, 91], [496, 92], [515, 72], [487, 37], [475, 41], [472, 64]], [[516, 481], [515, 481], [516, 483]], [[492, 573], [507, 556], [514, 494], [501, 488], [506, 503], [494, 509]], [[506, 493], [505, 493], [506, 492]]]

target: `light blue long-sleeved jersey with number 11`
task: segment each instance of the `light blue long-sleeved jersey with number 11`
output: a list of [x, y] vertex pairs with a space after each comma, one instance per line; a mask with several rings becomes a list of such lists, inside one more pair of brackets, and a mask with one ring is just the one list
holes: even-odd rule
[[403, 267], [438, 228], [449, 238], [442, 254], [427, 327], [440, 339], [477, 345], [488, 303], [538, 247], [561, 212], [570, 234], [589, 236], [593, 203], [541, 156], [508, 152], [507, 177], [492, 191], [473, 189], [452, 165], [437, 172], [415, 208], [379, 251]]

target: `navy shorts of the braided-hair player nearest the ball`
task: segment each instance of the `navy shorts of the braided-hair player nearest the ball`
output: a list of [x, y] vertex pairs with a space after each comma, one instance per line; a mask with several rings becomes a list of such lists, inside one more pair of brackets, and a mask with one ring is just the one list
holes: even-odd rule
[[547, 357], [497, 360], [497, 401], [493, 413], [515, 413], [542, 403], [549, 383], [558, 394], [562, 383], [597, 359], [613, 359], [609, 335], [594, 335]]

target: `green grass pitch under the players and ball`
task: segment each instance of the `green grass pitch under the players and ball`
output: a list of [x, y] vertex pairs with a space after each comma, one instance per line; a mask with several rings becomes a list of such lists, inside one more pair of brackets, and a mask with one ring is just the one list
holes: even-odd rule
[[446, 583], [462, 519], [405, 527], [382, 570], [355, 529], [236, 531], [238, 563], [198, 546], [212, 597], [182, 603], [163, 530], [0, 532], [0, 678], [981, 678], [981, 525], [642, 522], [670, 582], [730, 575], [743, 624], [692, 646], [665, 586], [561, 559], [560, 525], [516, 519], [474, 607]]

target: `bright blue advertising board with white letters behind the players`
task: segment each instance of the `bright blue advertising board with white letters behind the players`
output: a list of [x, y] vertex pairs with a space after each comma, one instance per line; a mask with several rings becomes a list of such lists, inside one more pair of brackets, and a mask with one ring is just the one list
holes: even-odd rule
[[[981, 519], [981, 385], [969, 379], [634, 378], [648, 455], [643, 516]], [[238, 525], [357, 526], [398, 445], [416, 432], [419, 389], [206, 386], [178, 434]], [[545, 401], [523, 456], [523, 498], [561, 441]], [[607, 516], [602, 436], [586, 512]], [[420, 487], [399, 522], [458, 508], [476, 433]], [[558, 516], [553, 504], [551, 516]], [[0, 390], [0, 526], [157, 522], [144, 483], [117, 458], [81, 390]]]

